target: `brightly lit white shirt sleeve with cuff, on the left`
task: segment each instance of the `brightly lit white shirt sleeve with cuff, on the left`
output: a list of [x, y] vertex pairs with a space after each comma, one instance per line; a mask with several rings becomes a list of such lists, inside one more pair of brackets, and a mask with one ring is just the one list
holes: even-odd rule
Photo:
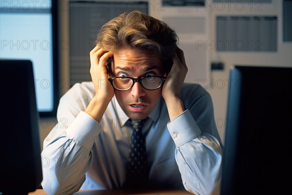
[[60, 99], [60, 122], [45, 138], [41, 153], [41, 185], [50, 195], [73, 194], [80, 189], [92, 164], [91, 147], [101, 132], [101, 125], [81, 111], [87, 102], [78, 101], [71, 93]]

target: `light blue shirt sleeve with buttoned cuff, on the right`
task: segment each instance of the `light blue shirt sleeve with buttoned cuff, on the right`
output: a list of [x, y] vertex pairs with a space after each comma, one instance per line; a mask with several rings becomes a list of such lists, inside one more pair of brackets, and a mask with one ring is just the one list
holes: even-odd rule
[[175, 158], [183, 185], [197, 195], [212, 194], [221, 178], [221, 140], [210, 100], [209, 95], [202, 96], [167, 124], [177, 146]]

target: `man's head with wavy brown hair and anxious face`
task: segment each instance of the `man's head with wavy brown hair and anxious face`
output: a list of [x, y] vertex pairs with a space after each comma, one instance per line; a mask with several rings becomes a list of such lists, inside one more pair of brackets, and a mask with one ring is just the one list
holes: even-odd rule
[[[113, 52], [108, 60], [111, 78], [163, 77], [171, 69], [177, 40], [175, 31], [167, 24], [139, 11], [110, 20], [97, 36], [98, 46]], [[132, 119], [146, 118], [161, 97], [162, 87], [147, 90], [141, 83], [135, 82], [127, 91], [114, 92], [123, 111]]]

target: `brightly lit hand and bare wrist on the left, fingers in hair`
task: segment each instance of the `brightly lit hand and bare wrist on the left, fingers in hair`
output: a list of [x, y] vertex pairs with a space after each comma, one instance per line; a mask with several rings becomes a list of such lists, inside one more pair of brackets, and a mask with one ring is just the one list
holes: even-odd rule
[[95, 87], [95, 95], [84, 112], [100, 122], [111, 98], [114, 95], [113, 87], [108, 80], [107, 59], [113, 53], [101, 49], [96, 45], [90, 52], [90, 74]]

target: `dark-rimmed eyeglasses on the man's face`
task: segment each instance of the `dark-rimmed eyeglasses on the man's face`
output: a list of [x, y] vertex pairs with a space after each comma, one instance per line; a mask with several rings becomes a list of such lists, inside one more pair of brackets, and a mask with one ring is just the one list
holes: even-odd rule
[[146, 76], [142, 78], [131, 78], [131, 77], [113, 77], [110, 78], [108, 74], [108, 79], [116, 90], [127, 91], [131, 89], [135, 82], [139, 82], [146, 90], [156, 90], [159, 89], [166, 79], [166, 73], [163, 77], [158, 76]]

